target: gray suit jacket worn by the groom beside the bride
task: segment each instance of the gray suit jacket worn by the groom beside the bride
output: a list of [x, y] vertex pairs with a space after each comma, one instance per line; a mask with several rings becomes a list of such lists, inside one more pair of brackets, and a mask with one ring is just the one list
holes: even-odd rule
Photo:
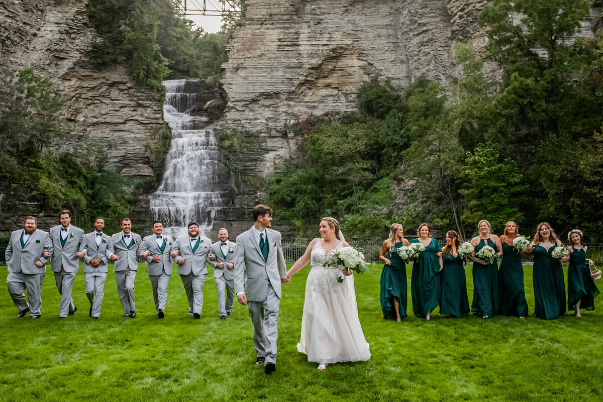
[[[268, 295], [268, 280], [280, 298], [280, 279], [287, 277], [285, 255], [280, 232], [266, 228], [268, 259], [264, 261], [253, 228], [236, 237], [235, 292], [245, 292], [249, 301], [264, 301]], [[245, 280], [247, 274], [247, 280]]]

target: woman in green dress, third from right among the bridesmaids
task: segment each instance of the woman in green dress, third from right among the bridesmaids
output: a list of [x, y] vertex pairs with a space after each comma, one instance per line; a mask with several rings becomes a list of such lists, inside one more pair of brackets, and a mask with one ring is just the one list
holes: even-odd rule
[[505, 231], [500, 236], [502, 244], [502, 261], [498, 270], [498, 296], [500, 313], [507, 316], [526, 318], [528, 302], [523, 288], [523, 264], [521, 253], [513, 247], [513, 240], [520, 236], [519, 228], [513, 221], [508, 221]]

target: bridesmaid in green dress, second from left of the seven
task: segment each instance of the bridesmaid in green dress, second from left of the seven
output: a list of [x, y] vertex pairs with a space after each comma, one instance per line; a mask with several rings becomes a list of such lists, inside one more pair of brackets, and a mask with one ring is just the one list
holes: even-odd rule
[[442, 270], [442, 253], [438, 240], [431, 238], [428, 224], [418, 226], [417, 236], [411, 243], [423, 244], [425, 251], [412, 263], [412, 312], [415, 316], [424, 317], [429, 321], [440, 297], [439, 272]]

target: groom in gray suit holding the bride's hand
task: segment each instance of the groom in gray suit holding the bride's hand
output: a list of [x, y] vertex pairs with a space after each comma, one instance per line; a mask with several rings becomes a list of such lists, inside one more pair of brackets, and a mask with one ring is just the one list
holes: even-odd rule
[[276, 371], [280, 283], [289, 281], [280, 233], [270, 229], [272, 213], [265, 205], [253, 209], [253, 227], [236, 237], [235, 251], [236, 297], [243, 306], [248, 303], [256, 364], [264, 363], [266, 374]]

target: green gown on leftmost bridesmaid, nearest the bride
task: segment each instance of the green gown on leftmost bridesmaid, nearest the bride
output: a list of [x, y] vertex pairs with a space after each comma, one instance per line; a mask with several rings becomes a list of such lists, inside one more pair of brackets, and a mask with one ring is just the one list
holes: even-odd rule
[[[403, 242], [397, 242], [396, 248], [402, 247]], [[400, 318], [406, 318], [406, 306], [408, 305], [408, 284], [406, 281], [406, 263], [398, 253], [386, 256], [391, 265], [384, 265], [381, 271], [381, 310], [383, 318], [396, 318], [393, 298], [396, 297], [400, 303]]]

